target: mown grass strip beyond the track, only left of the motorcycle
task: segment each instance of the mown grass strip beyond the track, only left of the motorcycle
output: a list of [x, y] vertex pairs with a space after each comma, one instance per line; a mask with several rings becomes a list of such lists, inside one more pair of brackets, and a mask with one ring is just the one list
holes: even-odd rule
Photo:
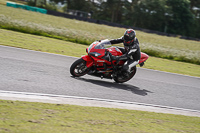
[[4, 29], [0, 29], [0, 44], [76, 57], [84, 55], [87, 48], [86, 45]]

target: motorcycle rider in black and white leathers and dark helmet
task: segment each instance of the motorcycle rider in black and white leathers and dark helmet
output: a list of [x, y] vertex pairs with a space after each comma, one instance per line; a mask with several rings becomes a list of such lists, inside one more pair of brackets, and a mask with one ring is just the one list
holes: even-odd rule
[[[136, 38], [136, 32], [133, 29], [127, 29], [124, 33], [124, 36], [118, 39], [110, 40], [111, 44], [123, 43], [123, 47], [118, 47], [121, 52], [123, 53], [122, 56], [112, 56], [114, 60], [127, 60], [124, 63], [122, 71], [129, 72], [130, 69], [136, 66], [139, 63], [141, 54], [140, 54], [140, 47], [139, 41]], [[140, 64], [141, 66], [143, 64]]]

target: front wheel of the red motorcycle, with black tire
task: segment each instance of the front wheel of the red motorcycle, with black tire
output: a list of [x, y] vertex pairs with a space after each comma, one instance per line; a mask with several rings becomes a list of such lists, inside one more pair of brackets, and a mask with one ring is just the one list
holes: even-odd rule
[[86, 61], [82, 58], [76, 60], [70, 67], [70, 73], [74, 77], [80, 77], [89, 72], [89, 68], [86, 66]]

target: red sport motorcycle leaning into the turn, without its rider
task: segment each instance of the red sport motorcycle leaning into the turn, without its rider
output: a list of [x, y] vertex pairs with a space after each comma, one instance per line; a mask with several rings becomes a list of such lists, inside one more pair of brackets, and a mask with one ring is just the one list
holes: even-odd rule
[[[70, 67], [70, 73], [74, 77], [85, 74], [101, 78], [114, 79], [117, 83], [130, 80], [136, 73], [136, 66], [131, 68], [130, 73], [122, 72], [122, 66], [126, 60], [116, 61], [112, 56], [121, 56], [118, 47], [112, 46], [109, 40], [95, 41], [87, 49], [88, 55], [76, 60]], [[141, 52], [140, 66], [148, 59], [148, 55]]]

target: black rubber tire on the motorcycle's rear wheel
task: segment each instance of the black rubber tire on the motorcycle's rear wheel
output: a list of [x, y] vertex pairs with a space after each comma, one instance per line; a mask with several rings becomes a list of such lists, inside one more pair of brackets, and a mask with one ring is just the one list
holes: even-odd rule
[[133, 68], [131, 68], [131, 73], [129, 74], [129, 76], [123, 76], [123, 75], [120, 75], [120, 76], [117, 76], [116, 78], [114, 78], [114, 81], [117, 82], [117, 83], [124, 83], [124, 82], [127, 82], [128, 80], [130, 80], [136, 73], [136, 66], [134, 66]]

